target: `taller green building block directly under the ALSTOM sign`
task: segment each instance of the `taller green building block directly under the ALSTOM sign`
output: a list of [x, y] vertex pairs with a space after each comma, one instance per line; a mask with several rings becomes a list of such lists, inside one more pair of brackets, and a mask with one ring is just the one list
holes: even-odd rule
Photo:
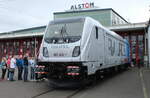
[[55, 12], [54, 19], [75, 16], [89, 16], [98, 20], [104, 26], [127, 24], [128, 22], [112, 8], [107, 9], [84, 9]]

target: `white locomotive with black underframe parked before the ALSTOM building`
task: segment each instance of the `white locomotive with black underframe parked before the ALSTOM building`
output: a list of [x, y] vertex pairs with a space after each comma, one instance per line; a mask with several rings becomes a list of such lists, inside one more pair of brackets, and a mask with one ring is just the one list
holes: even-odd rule
[[127, 67], [129, 50], [126, 40], [90, 17], [57, 19], [46, 28], [38, 65], [55, 83], [81, 82], [102, 70]]

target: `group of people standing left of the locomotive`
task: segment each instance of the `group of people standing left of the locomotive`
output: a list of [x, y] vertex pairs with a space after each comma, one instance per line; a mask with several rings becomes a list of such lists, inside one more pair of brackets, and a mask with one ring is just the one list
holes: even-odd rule
[[[3, 57], [0, 62], [0, 68], [2, 70], [1, 80], [7, 79], [9, 81], [14, 81], [14, 74], [15, 72], [17, 72], [16, 70], [18, 69], [18, 80], [23, 80], [24, 82], [27, 82], [30, 79], [30, 81], [35, 81], [35, 65], [35, 58], [28, 57], [27, 54], [24, 57], [22, 55]], [[30, 77], [28, 74], [29, 71]]]

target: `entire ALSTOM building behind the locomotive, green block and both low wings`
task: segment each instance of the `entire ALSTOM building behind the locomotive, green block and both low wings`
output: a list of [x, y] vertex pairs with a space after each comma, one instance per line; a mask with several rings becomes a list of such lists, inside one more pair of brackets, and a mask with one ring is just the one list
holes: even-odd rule
[[[147, 22], [131, 24], [113, 9], [84, 9], [55, 12], [54, 19], [74, 16], [90, 16], [109, 29], [115, 31], [130, 43], [130, 57], [136, 64], [140, 58], [147, 58]], [[0, 33], [0, 58], [8, 55], [36, 56], [46, 26]]]

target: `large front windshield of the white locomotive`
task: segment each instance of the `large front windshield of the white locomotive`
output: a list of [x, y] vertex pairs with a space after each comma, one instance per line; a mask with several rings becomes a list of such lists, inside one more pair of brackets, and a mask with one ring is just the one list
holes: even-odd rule
[[49, 25], [45, 41], [47, 43], [73, 43], [80, 40], [83, 32], [83, 21], [53, 22]]

